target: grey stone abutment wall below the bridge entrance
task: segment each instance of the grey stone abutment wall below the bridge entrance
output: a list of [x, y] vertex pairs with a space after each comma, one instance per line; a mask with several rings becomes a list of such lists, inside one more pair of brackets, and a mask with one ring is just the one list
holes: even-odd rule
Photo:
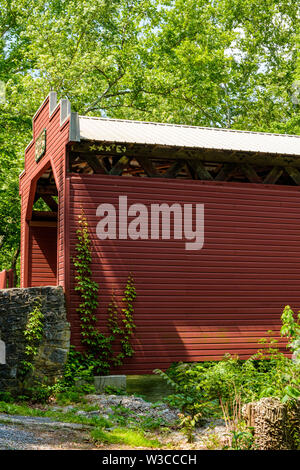
[[3, 289], [0, 290], [0, 338], [5, 344], [6, 363], [0, 364], [0, 391], [22, 389], [21, 363], [28, 360], [24, 353], [24, 331], [38, 299], [44, 314], [43, 339], [33, 360], [33, 378], [51, 384], [62, 374], [70, 346], [70, 325], [66, 321], [63, 289]]

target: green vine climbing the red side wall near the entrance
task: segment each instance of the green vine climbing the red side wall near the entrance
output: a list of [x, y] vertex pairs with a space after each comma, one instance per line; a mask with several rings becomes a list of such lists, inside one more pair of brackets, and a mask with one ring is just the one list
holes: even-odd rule
[[[96, 373], [109, 373], [112, 366], [121, 365], [125, 357], [134, 354], [131, 339], [135, 328], [133, 321], [133, 302], [136, 298], [133, 276], [130, 274], [124, 289], [122, 301], [125, 307], [119, 311], [116, 296], [113, 291], [111, 302], [108, 306], [108, 334], [104, 334], [97, 328], [96, 310], [99, 303], [99, 286], [92, 280], [91, 240], [89, 237], [88, 222], [83, 209], [78, 216], [78, 229], [76, 256], [73, 263], [76, 269], [75, 291], [78, 292], [81, 301], [77, 308], [80, 317], [81, 343], [86, 348], [82, 353], [83, 359], [89, 359]], [[114, 352], [113, 345], [119, 339], [120, 351]]]

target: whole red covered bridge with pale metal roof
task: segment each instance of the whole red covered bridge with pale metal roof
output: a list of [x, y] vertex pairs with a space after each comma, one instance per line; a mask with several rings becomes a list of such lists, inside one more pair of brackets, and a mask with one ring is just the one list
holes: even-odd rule
[[[298, 136], [78, 116], [51, 92], [33, 118], [20, 175], [21, 285], [64, 287], [79, 346], [72, 257], [83, 208], [100, 326], [112, 288], [121, 293], [130, 272], [135, 279], [136, 353], [123, 372], [225, 352], [247, 358], [267, 330], [279, 337], [286, 304], [300, 306], [299, 185]], [[120, 196], [131, 208], [125, 222]], [[36, 209], [40, 200], [47, 210]], [[115, 237], [99, 238], [101, 204], [115, 208]], [[170, 231], [161, 219], [150, 236], [149, 218], [144, 231], [135, 220], [133, 235], [120, 236], [134, 210], [162, 204], [192, 208], [194, 233], [195, 208], [204, 207], [203, 246], [186, 249], [172, 210]]]

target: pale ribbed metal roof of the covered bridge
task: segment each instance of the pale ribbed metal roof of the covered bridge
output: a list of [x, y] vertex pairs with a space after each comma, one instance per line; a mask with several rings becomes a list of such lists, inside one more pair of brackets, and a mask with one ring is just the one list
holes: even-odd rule
[[300, 155], [300, 136], [79, 116], [80, 140]]

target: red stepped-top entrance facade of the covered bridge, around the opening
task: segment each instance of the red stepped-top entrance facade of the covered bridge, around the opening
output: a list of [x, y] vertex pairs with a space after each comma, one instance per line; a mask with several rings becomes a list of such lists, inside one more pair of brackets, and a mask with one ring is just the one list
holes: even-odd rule
[[[46, 128], [46, 153], [37, 163], [35, 161], [35, 139]], [[57, 106], [49, 117], [49, 99], [41, 106], [33, 121], [33, 141], [25, 152], [25, 172], [20, 178], [21, 194], [21, 286], [30, 286], [28, 278], [29, 263], [29, 228], [27, 220], [30, 219], [32, 198], [35, 192], [35, 183], [44, 168], [51, 164], [58, 190], [58, 270], [54, 285], [64, 286], [65, 250], [64, 250], [64, 211], [65, 211], [65, 172], [66, 172], [66, 144], [69, 141], [69, 119], [60, 126], [60, 106]], [[29, 207], [29, 217], [28, 217]], [[42, 273], [41, 273], [42, 275]], [[42, 276], [41, 276], [42, 279]], [[41, 284], [40, 284], [41, 285]]]

